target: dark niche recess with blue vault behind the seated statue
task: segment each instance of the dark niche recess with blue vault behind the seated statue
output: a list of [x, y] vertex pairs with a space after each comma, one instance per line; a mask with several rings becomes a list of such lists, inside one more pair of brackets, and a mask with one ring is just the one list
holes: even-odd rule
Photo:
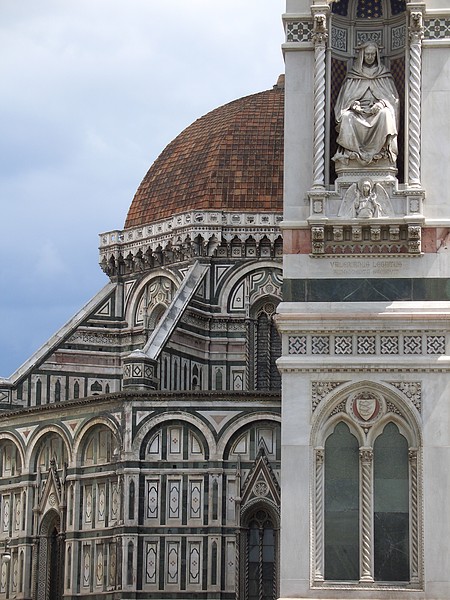
[[347, 65], [355, 56], [355, 49], [364, 42], [375, 42], [381, 48], [384, 63], [391, 70], [400, 96], [400, 126], [397, 159], [400, 182], [405, 181], [405, 65], [408, 41], [405, 0], [339, 0], [331, 5], [329, 26], [329, 106], [328, 148], [329, 179], [336, 178], [331, 157], [336, 152], [334, 105], [344, 81]]

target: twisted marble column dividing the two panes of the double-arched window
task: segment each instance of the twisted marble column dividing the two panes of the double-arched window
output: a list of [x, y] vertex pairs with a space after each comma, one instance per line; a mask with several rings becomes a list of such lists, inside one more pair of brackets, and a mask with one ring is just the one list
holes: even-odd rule
[[372, 464], [373, 451], [361, 448], [361, 581], [373, 581]]

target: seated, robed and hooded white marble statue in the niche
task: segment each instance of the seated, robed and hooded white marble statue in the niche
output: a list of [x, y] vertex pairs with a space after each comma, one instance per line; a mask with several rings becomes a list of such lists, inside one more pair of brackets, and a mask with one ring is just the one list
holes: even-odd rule
[[365, 42], [347, 72], [336, 106], [338, 149], [334, 161], [357, 160], [366, 166], [380, 159], [397, 160], [399, 97], [380, 49]]

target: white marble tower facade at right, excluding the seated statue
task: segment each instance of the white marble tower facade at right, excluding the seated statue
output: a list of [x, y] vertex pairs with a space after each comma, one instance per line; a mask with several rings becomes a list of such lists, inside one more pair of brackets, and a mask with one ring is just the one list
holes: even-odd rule
[[[287, 0], [282, 598], [450, 598], [449, 11]], [[367, 40], [396, 80], [399, 157], [335, 170]], [[365, 179], [382, 210], [354, 208]]]

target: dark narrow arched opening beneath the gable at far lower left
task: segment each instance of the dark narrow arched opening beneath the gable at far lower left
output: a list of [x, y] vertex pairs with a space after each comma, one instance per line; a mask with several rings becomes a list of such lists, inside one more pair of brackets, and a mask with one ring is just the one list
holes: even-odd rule
[[61, 600], [63, 597], [64, 556], [60, 517], [55, 510], [50, 510], [40, 527], [36, 572], [38, 598]]

